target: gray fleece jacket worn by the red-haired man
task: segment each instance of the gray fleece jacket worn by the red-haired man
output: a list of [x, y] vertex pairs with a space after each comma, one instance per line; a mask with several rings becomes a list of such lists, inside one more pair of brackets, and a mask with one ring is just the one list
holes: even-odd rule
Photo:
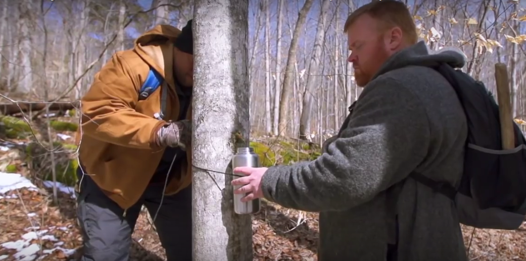
[[455, 51], [430, 55], [423, 42], [399, 51], [317, 160], [263, 176], [269, 201], [320, 212], [320, 261], [386, 260], [397, 238], [399, 261], [467, 260], [453, 202], [408, 178], [418, 171], [460, 182], [467, 122], [447, 80], [426, 67], [437, 62], [465, 60]]

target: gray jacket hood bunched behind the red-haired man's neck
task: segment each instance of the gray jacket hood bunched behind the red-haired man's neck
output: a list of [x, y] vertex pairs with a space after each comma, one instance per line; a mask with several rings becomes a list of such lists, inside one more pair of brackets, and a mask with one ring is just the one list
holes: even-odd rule
[[453, 68], [462, 68], [466, 65], [466, 55], [455, 47], [430, 51], [424, 41], [419, 41], [389, 57], [372, 79], [376, 79], [388, 71], [407, 66], [434, 67], [441, 63], [449, 64]]

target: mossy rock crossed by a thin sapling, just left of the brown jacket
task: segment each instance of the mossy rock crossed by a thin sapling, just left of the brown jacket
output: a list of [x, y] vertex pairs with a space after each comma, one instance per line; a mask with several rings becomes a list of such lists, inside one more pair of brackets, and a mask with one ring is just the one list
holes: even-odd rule
[[[78, 161], [74, 156], [76, 150], [77, 147], [73, 144], [59, 142], [53, 144], [56, 181], [68, 186], [74, 186], [77, 182]], [[39, 143], [30, 143], [26, 146], [24, 160], [33, 179], [53, 180], [51, 153], [49, 148], [43, 148]]]

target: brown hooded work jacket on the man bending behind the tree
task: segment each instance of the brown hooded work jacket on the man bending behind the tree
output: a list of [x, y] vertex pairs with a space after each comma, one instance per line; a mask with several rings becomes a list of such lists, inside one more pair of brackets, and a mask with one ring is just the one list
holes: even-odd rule
[[[166, 124], [154, 118], [160, 110], [162, 87], [146, 100], [138, 100], [150, 67], [169, 86], [165, 119], [175, 121], [179, 115], [172, 73], [174, 40], [179, 34], [175, 27], [158, 25], [138, 37], [133, 49], [112, 56], [81, 100], [77, 143], [83, 171], [125, 210], [139, 200], [165, 150], [155, 144], [157, 130]], [[191, 106], [186, 119], [191, 119]], [[190, 184], [190, 162], [191, 151], [187, 151], [187, 161], [174, 166], [177, 173], [166, 194], [175, 194]]]

